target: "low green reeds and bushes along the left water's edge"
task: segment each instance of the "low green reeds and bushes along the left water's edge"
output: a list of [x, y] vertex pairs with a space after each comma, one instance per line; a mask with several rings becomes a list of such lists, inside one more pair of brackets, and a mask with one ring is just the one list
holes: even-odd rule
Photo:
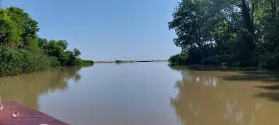
[[92, 60], [82, 60], [71, 55], [55, 57], [47, 56], [40, 51], [0, 47], [0, 76], [15, 76], [51, 67], [88, 67], [91, 65], [93, 65]]

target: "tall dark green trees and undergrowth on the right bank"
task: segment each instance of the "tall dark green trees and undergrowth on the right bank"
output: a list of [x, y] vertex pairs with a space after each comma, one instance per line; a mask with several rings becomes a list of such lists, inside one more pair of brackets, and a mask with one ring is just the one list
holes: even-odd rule
[[279, 68], [279, 0], [182, 0], [172, 65]]

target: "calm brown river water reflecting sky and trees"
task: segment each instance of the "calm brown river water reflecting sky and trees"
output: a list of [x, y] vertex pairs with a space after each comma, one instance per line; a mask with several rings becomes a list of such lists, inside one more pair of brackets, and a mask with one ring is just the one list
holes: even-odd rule
[[0, 78], [0, 96], [69, 124], [276, 125], [278, 80], [271, 72], [96, 64]]

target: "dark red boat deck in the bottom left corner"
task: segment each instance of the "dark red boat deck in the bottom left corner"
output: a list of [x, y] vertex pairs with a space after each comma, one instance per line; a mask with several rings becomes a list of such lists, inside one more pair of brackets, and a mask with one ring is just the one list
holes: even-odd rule
[[[0, 125], [22, 124], [22, 125], [66, 125], [54, 117], [20, 105], [15, 101], [4, 101], [3, 109], [0, 110]], [[13, 112], [20, 112], [19, 117], [13, 117]]]

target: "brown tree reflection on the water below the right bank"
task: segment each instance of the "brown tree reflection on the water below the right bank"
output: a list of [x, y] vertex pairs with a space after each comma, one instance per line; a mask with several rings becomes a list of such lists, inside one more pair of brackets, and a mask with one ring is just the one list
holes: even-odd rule
[[[243, 72], [179, 71], [182, 76], [176, 82], [179, 92], [171, 103], [183, 124], [272, 125], [279, 122], [279, 104], [255, 97], [269, 91], [255, 87], [270, 81], [251, 81], [251, 76]], [[235, 76], [238, 78], [233, 78]]]

